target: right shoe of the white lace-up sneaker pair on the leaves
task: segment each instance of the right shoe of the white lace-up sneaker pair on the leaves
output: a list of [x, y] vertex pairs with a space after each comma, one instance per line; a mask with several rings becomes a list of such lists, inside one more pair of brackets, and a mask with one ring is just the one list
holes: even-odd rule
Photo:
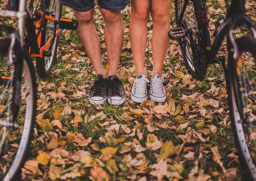
[[166, 92], [163, 85], [164, 79], [157, 73], [151, 77], [150, 99], [155, 102], [166, 101]]

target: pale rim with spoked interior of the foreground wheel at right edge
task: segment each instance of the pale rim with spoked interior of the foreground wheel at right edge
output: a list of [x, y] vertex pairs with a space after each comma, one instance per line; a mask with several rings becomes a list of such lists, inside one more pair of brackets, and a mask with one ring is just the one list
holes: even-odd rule
[[234, 67], [232, 102], [236, 133], [241, 152], [254, 180], [256, 180], [256, 64], [253, 56], [243, 52]]

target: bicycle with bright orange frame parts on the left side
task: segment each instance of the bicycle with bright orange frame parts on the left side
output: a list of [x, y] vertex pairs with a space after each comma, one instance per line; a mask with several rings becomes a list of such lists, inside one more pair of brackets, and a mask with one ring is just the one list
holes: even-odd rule
[[[34, 6], [36, 4], [36, 6]], [[55, 61], [58, 35], [76, 29], [77, 21], [61, 17], [60, 0], [8, 0], [0, 16], [16, 17], [18, 28], [0, 25], [0, 180], [12, 181], [29, 152], [36, 115], [36, 57], [39, 76], [47, 76]], [[5, 61], [5, 62], [4, 62]]]

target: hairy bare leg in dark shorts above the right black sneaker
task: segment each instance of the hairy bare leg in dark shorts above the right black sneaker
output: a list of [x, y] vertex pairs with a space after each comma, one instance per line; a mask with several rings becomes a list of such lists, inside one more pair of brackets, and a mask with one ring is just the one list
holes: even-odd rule
[[105, 22], [105, 43], [107, 46], [109, 72], [108, 75], [118, 75], [118, 63], [124, 41], [124, 27], [121, 12], [100, 9]]

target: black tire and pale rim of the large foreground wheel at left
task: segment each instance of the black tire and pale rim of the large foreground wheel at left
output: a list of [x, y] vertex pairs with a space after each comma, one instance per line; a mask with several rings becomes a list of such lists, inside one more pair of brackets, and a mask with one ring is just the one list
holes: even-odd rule
[[[16, 83], [16, 71], [19, 69], [19, 64], [14, 65], [14, 79], [13, 86], [17, 86]], [[26, 110], [24, 116], [23, 131], [20, 138], [20, 144], [16, 151], [16, 155], [13, 158], [12, 165], [8, 169], [7, 173], [3, 176], [3, 181], [16, 181], [19, 180], [19, 174], [21, 168], [26, 161], [27, 154], [30, 148], [30, 142], [33, 136], [33, 126], [35, 124], [36, 117], [36, 76], [34, 72], [34, 67], [29, 55], [23, 58], [23, 75], [24, 81], [26, 82]], [[17, 71], [18, 72], [18, 71]], [[14, 88], [15, 89], [15, 88]]]

